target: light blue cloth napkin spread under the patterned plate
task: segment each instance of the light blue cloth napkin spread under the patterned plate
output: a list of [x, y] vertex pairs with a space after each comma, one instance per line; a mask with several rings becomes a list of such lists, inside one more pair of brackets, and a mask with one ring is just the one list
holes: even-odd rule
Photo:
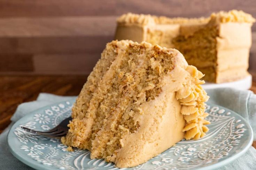
[[[250, 122], [254, 131], [254, 141], [256, 141], [256, 95], [251, 91], [241, 91], [231, 88], [219, 88], [215, 90], [208, 90], [210, 100], [208, 103], [221, 105], [228, 109], [231, 109], [247, 121]], [[22, 103], [18, 106], [11, 120], [11, 125], [18, 119], [22, 118], [29, 112], [44, 107], [49, 104], [53, 104], [60, 101], [75, 99], [74, 97], [56, 96], [53, 94], [41, 93], [36, 101]], [[7, 147], [7, 133], [11, 125], [3, 131], [0, 135], [0, 169], [4, 170], [26, 170], [32, 169], [22, 162], [18, 161], [8, 150]], [[248, 152], [241, 156], [234, 162], [219, 168], [219, 170], [253, 170], [256, 168], [256, 150], [254, 147], [250, 147]]]

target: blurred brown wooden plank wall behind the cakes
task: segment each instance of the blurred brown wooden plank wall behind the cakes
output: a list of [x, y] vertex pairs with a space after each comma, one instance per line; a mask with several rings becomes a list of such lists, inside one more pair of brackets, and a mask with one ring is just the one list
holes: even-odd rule
[[[0, 0], [0, 75], [88, 75], [126, 12], [200, 17], [231, 9], [256, 17], [255, 0]], [[256, 72], [256, 24], [249, 70]]]

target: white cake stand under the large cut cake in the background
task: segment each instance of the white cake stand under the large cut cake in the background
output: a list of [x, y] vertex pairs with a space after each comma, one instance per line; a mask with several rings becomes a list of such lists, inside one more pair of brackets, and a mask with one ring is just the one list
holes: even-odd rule
[[204, 89], [231, 87], [239, 90], [248, 90], [249, 88], [251, 88], [251, 82], [252, 82], [252, 76], [249, 75], [246, 78], [243, 78], [235, 82], [220, 83], [220, 84], [206, 82], [202, 86]]

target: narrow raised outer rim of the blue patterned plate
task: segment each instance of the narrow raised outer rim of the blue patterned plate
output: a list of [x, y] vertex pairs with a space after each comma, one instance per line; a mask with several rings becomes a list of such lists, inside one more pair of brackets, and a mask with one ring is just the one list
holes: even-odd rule
[[[48, 166], [46, 166], [46, 165], [44, 165], [44, 164], [41, 164], [41, 163], [38, 163], [38, 162], [36, 162], [35, 160], [33, 160], [32, 158], [31, 158], [31, 159], [24, 159], [24, 158], [22, 157], [23, 154], [20, 154], [19, 152], [16, 152], [16, 151], [14, 150], [14, 148], [11, 147], [11, 144], [10, 144], [10, 140], [11, 140], [11, 138], [10, 138], [10, 136], [11, 136], [11, 135], [10, 135], [10, 132], [13, 131], [13, 130], [17, 127], [17, 125], [20, 124], [20, 122], [21, 122], [22, 120], [24, 120], [24, 119], [26, 119], [26, 118], [28, 118], [28, 117], [31, 117], [32, 114], [34, 114], [35, 112], [37, 112], [37, 111], [39, 111], [39, 110], [43, 110], [43, 109], [49, 108], [50, 106], [55, 105], [55, 104], [60, 104], [61, 102], [70, 102], [70, 103], [74, 103], [75, 101], [76, 101], [76, 99], [71, 99], [71, 100], [65, 100], [65, 101], [60, 101], [60, 102], [56, 102], [56, 103], [53, 103], [53, 104], [46, 105], [46, 106], [44, 106], [44, 107], [41, 107], [41, 108], [39, 108], [39, 109], [36, 109], [36, 110], [34, 110], [34, 111], [28, 113], [26, 116], [24, 116], [24, 117], [22, 117], [21, 119], [19, 119], [18, 121], [16, 121], [16, 122], [11, 126], [11, 128], [10, 128], [8, 134], [7, 134], [7, 143], [8, 143], [9, 151], [10, 151], [18, 160], [20, 160], [21, 162], [23, 162], [24, 164], [28, 165], [28, 166], [31, 167], [31, 168], [39, 169], [39, 170], [48, 170], [48, 169], [49, 169]], [[249, 133], [250, 139], [249, 139], [248, 144], [243, 148], [242, 151], [240, 151], [240, 152], [238, 152], [238, 153], [236, 153], [236, 154], [233, 154], [231, 157], [226, 158], [226, 159], [224, 159], [224, 160], [221, 160], [221, 161], [219, 161], [219, 162], [217, 162], [217, 163], [214, 163], [214, 164], [211, 164], [211, 165], [208, 165], [208, 166], [205, 166], [205, 167], [193, 168], [193, 169], [197, 169], [197, 170], [204, 170], [205, 168], [207, 168], [207, 169], [216, 169], [216, 168], [223, 167], [224, 165], [227, 165], [227, 164], [229, 164], [229, 163], [232, 163], [232, 162], [235, 161], [236, 159], [240, 158], [243, 154], [245, 154], [245, 153], [249, 150], [250, 146], [251, 146], [252, 143], [253, 143], [253, 129], [251, 128], [250, 124], [248, 123], [248, 121], [247, 121], [245, 118], [243, 118], [242, 116], [240, 116], [240, 114], [238, 114], [238, 113], [236, 113], [236, 112], [234, 112], [234, 111], [232, 111], [232, 110], [230, 110], [230, 109], [227, 109], [227, 108], [225, 108], [225, 107], [223, 107], [223, 106], [221, 106], [221, 105], [217, 105], [217, 104], [210, 104], [210, 105], [211, 105], [211, 106], [222, 107], [222, 108], [226, 109], [227, 111], [231, 111], [231, 112], [235, 113], [236, 116], [238, 116], [239, 119], [242, 119], [242, 120], [246, 123], [246, 125], [249, 127], [249, 128], [248, 128], [248, 133]], [[53, 169], [53, 170], [59, 170], [59, 168], [56, 168], [56, 167], [51, 167], [51, 169]]]

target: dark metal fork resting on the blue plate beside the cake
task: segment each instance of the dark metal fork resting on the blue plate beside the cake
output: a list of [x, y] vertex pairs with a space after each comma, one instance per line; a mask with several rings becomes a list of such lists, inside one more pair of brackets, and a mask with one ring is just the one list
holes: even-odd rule
[[40, 136], [45, 136], [49, 138], [55, 138], [55, 139], [60, 139], [62, 136], [68, 133], [68, 124], [69, 121], [72, 120], [71, 117], [64, 119], [58, 126], [55, 128], [48, 130], [48, 131], [37, 131], [37, 130], [32, 130], [30, 128], [26, 128], [24, 126], [21, 126], [22, 129], [24, 129], [27, 132], [37, 134]]

